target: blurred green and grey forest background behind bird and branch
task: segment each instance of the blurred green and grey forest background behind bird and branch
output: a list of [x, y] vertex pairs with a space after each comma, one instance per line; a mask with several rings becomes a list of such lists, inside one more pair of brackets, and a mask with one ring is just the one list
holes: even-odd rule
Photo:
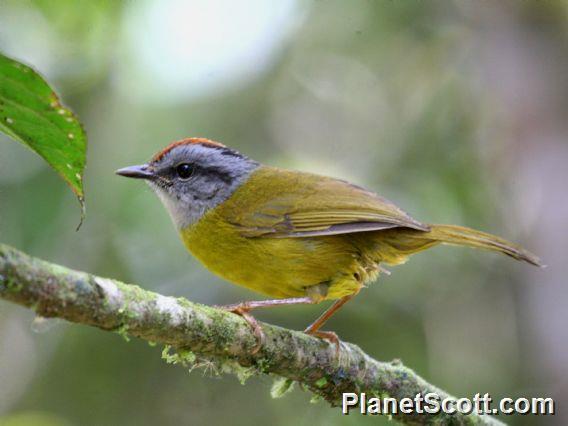
[[[548, 268], [440, 247], [329, 324], [457, 396], [568, 397], [568, 3], [0, 2], [0, 50], [57, 87], [89, 136], [87, 219], [46, 164], [0, 135], [0, 240], [206, 304], [257, 295], [183, 249], [140, 182], [114, 175], [202, 136], [333, 175], [425, 222], [524, 244]], [[303, 329], [322, 306], [258, 318]], [[0, 301], [0, 424], [386, 424], [272, 379], [188, 374], [160, 347], [34, 320]], [[567, 424], [507, 417], [511, 424]]]

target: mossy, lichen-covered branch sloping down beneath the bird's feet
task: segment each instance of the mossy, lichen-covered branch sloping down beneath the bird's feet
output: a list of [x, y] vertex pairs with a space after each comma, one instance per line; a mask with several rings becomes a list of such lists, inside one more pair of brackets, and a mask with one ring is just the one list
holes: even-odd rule
[[[73, 271], [2, 244], [0, 298], [32, 308], [43, 317], [126, 332], [167, 345], [177, 350], [176, 355], [166, 354], [169, 361], [214, 359], [218, 365], [299, 382], [333, 406], [341, 404], [343, 392], [396, 399], [427, 392], [449, 396], [399, 362], [376, 361], [349, 343], [336, 352], [327, 341], [269, 324], [262, 324], [265, 342], [251, 354], [256, 339], [237, 315]], [[499, 423], [486, 416], [462, 414], [394, 417], [409, 424]]]

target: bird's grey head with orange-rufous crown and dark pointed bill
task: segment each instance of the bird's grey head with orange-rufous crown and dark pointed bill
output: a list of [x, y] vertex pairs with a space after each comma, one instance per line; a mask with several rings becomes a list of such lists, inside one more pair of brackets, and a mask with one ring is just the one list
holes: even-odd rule
[[146, 164], [116, 173], [148, 182], [176, 227], [184, 229], [229, 198], [258, 166], [218, 142], [188, 138], [170, 144]]

